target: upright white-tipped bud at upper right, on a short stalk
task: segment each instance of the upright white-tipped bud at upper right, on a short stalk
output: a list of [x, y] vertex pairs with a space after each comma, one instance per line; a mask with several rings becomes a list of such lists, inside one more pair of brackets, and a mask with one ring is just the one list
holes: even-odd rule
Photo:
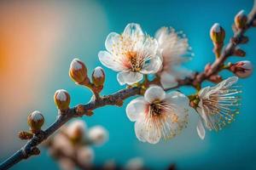
[[212, 42], [214, 43], [222, 43], [225, 38], [225, 31], [223, 27], [219, 26], [218, 23], [215, 23], [210, 31], [210, 36], [212, 38]]

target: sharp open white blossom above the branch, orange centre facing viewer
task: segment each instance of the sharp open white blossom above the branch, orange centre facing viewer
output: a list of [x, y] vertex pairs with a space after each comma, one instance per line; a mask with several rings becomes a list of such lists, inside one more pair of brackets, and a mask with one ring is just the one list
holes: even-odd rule
[[107, 51], [100, 51], [99, 59], [102, 65], [119, 72], [117, 79], [121, 85], [139, 82], [143, 74], [156, 73], [160, 69], [157, 41], [144, 35], [137, 24], [128, 24], [122, 34], [111, 32], [105, 46]]

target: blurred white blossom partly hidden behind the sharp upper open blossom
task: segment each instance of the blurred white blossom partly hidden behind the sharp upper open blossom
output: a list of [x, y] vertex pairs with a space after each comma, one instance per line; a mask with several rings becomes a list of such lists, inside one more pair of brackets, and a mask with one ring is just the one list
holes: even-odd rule
[[155, 38], [159, 44], [159, 53], [163, 60], [162, 68], [158, 72], [163, 88], [172, 88], [177, 85], [177, 79], [183, 79], [191, 74], [191, 71], [181, 67], [188, 61], [188, 38], [181, 37], [173, 28], [162, 27], [156, 32]]

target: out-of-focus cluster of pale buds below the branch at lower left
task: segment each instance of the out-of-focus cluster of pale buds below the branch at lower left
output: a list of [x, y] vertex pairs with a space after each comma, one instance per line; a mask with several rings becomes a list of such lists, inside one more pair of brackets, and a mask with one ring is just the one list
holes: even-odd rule
[[73, 121], [61, 132], [48, 139], [44, 145], [60, 164], [61, 169], [93, 166], [94, 151], [91, 145], [102, 145], [108, 140], [108, 131], [102, 126], [86, 127], [83, 121]]

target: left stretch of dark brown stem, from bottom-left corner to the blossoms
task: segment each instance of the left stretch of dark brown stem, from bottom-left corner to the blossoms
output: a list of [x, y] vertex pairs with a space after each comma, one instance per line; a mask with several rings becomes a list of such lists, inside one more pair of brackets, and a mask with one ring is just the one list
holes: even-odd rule
[[86, 105], [77, 105], [65, 113], [60, 113], [57, 120], [50, 125], [45, 131], [36, 133], [32, 139], [30, 139], [20, 150], [18, 150], [13, 156], [4, 161], [0, 165], [0, 169], [9, 169], [9, 167], [14, 166], [16, 163], [27, 159], [30, 156], [38, 155], [34, 150], [37, 148], [38, 144], [41, 144], [45, 139], [47, 139], [52, 133], [55, 133], [63, 124], [71, 120], [73, 117], [84, 116], [87, 111], [93, 111], [96, 108], [105, 105], [121, 105], [120, 101], [127, 99], [131, 96], [135, 96], [140, 93], [140, 88], [127, 88], [120, 90], [115, 94], [108, 96], [103, 96], [100, 99], [92, 100]]

